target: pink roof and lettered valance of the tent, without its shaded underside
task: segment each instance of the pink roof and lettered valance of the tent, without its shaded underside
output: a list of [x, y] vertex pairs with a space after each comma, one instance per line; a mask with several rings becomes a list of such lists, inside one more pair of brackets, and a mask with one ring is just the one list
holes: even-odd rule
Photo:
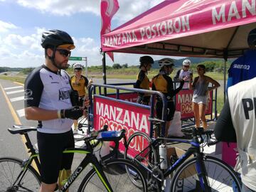
[[255, 0], [167, 0], [101, 36], [102, 50], [166, 41], [255, 21]]

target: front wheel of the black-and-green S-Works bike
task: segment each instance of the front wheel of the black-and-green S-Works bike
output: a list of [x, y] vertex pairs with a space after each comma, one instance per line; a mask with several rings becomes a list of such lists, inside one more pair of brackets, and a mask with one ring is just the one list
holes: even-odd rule
[[[145, 178], [142, 176], [139, 168], [131, 161], [126, 159], [110, 159], [105, 161], [102, 168], [114, 192], [147, 191]], [[126, 169], [133, 173], [133, 179], [141, 183], [142, 188], [138, 188], [132, 183], [131, 175], [127, 174]], [[78, 191], [100, 192], [107, 191], [107, 189], [100, 180], [100, 177], [97, 176], [95, 169], [92, 169], [82, 180]]]

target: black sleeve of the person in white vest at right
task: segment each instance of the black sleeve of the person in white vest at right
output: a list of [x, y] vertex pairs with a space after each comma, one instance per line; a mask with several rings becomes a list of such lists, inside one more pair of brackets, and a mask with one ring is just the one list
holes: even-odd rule
[[214, 134], [220, 142], [237, 142], [228, 99], [225, 101], [223, 110], [220, 112]]

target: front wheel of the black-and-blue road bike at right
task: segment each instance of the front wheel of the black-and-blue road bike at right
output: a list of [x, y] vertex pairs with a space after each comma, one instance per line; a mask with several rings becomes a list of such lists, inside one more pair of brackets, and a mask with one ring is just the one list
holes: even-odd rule
[[[208, 180], [208, 191], [241, 191], [238, 175], [225, 162], [213, 156], [203, 159]], [[196, 171], [196, 157], [185, 161], [176, 171], [171, 183], [171, 192], [175, 191], [203, 191]]]

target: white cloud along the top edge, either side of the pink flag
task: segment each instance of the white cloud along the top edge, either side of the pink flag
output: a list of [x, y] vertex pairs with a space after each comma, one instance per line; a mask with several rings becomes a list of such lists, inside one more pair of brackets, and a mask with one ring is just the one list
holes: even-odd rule
[[[150, 9], [156, 4], [164, 0], [119, 0], [119, 10], [114, 16], [118, 23], [124, 23], [129, 19], [142, 14], [142, 12]], [[18, 4], [28, 8], [38, 9], [42, 12], [47, 12], [55, 15], [73, 15], [79, 12], [92, 13], [100, 16], [100, 1], [99, 0], [18, 0]]]

